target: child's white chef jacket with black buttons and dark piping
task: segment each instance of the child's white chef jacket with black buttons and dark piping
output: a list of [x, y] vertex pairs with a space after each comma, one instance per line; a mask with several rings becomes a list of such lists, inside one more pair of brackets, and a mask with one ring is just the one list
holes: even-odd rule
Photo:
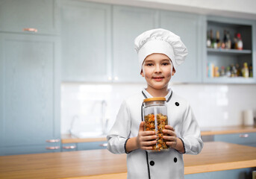
[[[107, 149], [113, 154], [124, 154], [128, 138], [137, 136], [142, 122], [144, 98], [152, 98], [145, 89], [122, 102], [116, 122], [107, 135]], [[199, 125], [190, 104], [169, 88], [166, 95], [168, 122], [184, 142], [186, 154], [199, 154], [203, 142]], [[146, 152], [142, 149], [127, 154], [128, 179], [183, 179], [183, 154], [173, 148], [169, 151]]]

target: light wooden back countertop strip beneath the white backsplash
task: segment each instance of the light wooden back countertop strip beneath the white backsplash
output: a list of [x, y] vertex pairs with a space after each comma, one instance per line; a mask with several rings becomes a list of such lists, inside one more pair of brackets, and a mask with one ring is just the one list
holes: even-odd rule
[[[240, 133], [256, 133], [256, 128], [253, 126], [230, 126], [230, 127], [215, 127], [215, 128], [202, 128], [202, 136], [218, 135], [218, 134], [240, 134]], [[78, 138], [71, 134], [62, 134], [61, 142], [66, 143], [78, 143], [78, 142], [99, 142], [106, 141], [106, 136], [93, 137], [93, 138]]]

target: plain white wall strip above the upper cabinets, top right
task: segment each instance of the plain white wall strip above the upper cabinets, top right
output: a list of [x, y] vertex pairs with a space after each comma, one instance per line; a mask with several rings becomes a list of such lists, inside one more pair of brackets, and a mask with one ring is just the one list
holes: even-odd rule
[[256, 19], [255, 0], [85, 0], [109, 4], [122, 4], [136, 7], [149, 7], [163, 10], [199, 13], [215, 16], [230, 16], [243, 19]]

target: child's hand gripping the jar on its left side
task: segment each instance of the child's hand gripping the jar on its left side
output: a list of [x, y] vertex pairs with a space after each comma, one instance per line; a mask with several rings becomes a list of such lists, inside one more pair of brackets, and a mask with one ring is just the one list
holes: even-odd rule
[[151, 145], [157, 143], [157, 135], [155, 135], [154, 131], [144, 131], [144, 123], [145, 122], [140, 122], [140, 130], [136, 139], [137, 148], [152, 150], [153, 147]]

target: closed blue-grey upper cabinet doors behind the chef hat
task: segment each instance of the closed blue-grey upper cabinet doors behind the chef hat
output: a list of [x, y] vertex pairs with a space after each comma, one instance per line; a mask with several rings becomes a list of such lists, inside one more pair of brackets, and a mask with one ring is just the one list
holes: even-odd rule
[[64, 1], [61, 21], [63, 81], [145, 82], [140, 75], [134, 39], [143, 31], [160, 27], [181, 36], [190, 51], [173, 81], [202, 81], [202, 16]]

